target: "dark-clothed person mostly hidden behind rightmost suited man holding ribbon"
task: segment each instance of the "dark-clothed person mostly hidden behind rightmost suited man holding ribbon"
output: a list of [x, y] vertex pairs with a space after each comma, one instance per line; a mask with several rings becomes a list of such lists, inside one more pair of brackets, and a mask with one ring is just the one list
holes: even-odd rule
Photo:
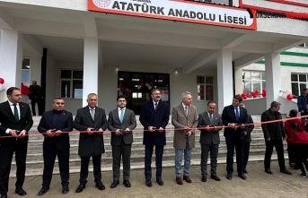
[[[245, 108], [243, 103], [240, 104], [240, 107]], [[248, 115], [248, 124], [253, 124], [251, 115]], [[249, 152], [251, 150], [251, 132], [254, 128], [254, 125], [246, 125], [244, 129], [245, 142], [244, 142], [244, 173], [248, 173], [246, 167], [249, 159]]]

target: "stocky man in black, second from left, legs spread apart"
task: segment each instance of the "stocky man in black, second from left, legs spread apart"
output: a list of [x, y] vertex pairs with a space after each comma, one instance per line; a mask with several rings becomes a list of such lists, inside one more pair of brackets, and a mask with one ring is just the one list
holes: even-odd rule
[[[62, 194], [67, 194], [69, 179], [69, 136], [73, 130], [73, 115], [64, 110], [64, 99], [56, 98], [52, 102], [53, 109], [47, 111], [40, 118], [38, 131], [43, 133], [43, 184], [38, 195], [49, 190], [56, 156], [61, 176]], [[64, 132], [64, 133], [63, 133]]]

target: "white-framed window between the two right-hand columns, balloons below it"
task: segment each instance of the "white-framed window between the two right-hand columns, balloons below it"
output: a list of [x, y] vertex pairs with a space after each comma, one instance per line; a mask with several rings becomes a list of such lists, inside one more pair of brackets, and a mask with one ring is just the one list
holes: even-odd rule
[[[265, 72], [258, 71], [243, 71], [242, 72], [242, 92], [251, 93], [255, 90], [266, 89], [266, 75]], [[251, 97], [251, 96], [250, 96]], [[257, 98], [262, 98], [262, 95], [258, 95]]]

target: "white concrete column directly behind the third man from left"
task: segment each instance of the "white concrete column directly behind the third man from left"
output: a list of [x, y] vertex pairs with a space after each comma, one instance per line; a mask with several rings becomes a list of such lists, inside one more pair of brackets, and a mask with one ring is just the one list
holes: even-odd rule
[[89, 93], [98, 92], [99, 73], [99, 39], [84, 38], [84, 84], [83, 84], [83, 107]]

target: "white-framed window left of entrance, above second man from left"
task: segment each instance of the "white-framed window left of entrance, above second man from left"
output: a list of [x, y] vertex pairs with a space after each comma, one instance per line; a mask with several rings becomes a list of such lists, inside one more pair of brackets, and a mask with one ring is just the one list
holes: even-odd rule
[[61, 98], [83, 99], [83, 71], [61, 70]]

